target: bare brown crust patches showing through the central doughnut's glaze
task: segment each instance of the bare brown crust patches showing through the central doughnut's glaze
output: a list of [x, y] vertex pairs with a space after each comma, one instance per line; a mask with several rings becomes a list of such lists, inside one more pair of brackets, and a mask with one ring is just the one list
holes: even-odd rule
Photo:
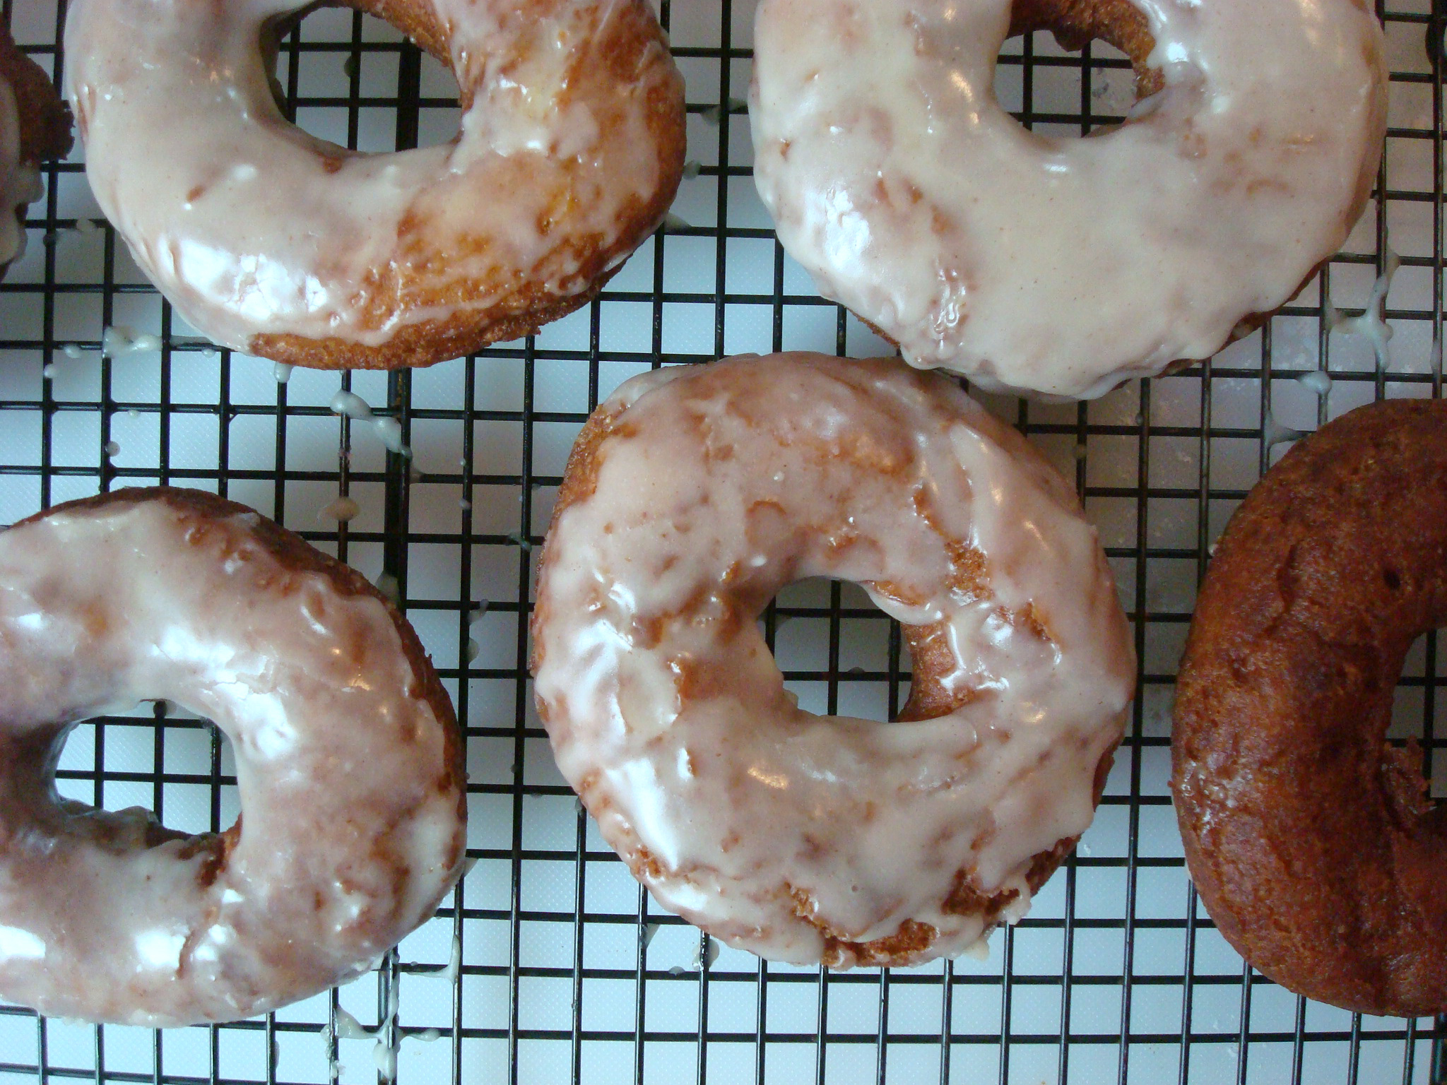
[[[557, 501], [553, 505], [553, 521], [548, 525], [550, 541], [554, 534], [553, 527], [557, 525], [563, 512], [574, 502], [586, 501], [598, 489], [598, 472], [602, 466], [602, 446], [615, 433], [627, 433], [629, 422], [624, 415], [625, 411], [605, 411], [602, 407], [589, 415], [587, 422], [579, 433], [577, 440], [573, 443], [573, 450], [567, 457], [567, 467], [563, 473], [563, 485], [559, 489]], [[544, 542], [540, 567], [547, 566], [548, 557], [548, 542]], [[965, 566], [968, 567], [968, 564], [969, 563], [967, 561]], [[984, 573], [983, 569], [977, 571], [981, 576]], [[878, 587], [878, 584], [875, 587]], [[1023, 621], [1032, 621], [1032, 618], [1026, 615], [1023, 616]], [[538, 665], [543, 661], [538, 654], [538, 645], [543, 638], [538, 637], [535, 631], [546, 622], [546, 610], [543, 608], [535, 609], [532, 613], [534, 648], [532, 658], [528, 663], [530, 670], [534, 674], [537, 674]], [[936, 626], [906, 625], [903, 629], [910, 645], [913, 671], [910, 678], [910, 697], [900, 710], [897, 719], [938, 719], [939, 716], [949, 715], [961, 705], [965, 705], [972, 696], [968, 690], [949, 693], [945, 687], [943, 678], [954, 673], [955, 661], [949, 654], [945, 639], [930, 635], [936, 631]], [[538, 710], [543, 712], [541, 705], [538, 706]], [[1104, 791], [1106, 777], [1110, 774], [1114, 754], [1116, 746], [1111, 746], [1101, 755], [1095, 765], [1095, 804], [1100, 804], [1100, 796]], [[1059, 865], [1075, 848], [1075, 842], [1078, 839], [1078, 836], [1068, 836], [1056, 841], [1053, 846], [1032, 858], [1030, 868], [1026, 872], [1026, 882], [1029, 884], [1032, 894], [1039, 891], [1040, 885], [1043, 885], [1049, 877], [1055, 874]], [[642, 878], [647, 874], [647, 862], [655, 862], [655, 859], [648, 856], [641, 848], [640, 852], [645, 856], [645, 859], [638, 859], [637, 856], [624, 858], [629, 864], [634, 874]], [[928, 923], [906, 920], [893, 935], [873, 939], [870, 942], [852, 942], [839, 932], [832, 930], [828, 924], [819, 923], [815, 919], [812, 903], [806, 894], [802, 894], [790, 885], [781, 885], [780, 891], [794, 900], [794, 914], [813, 926], [823, 936], [825, 965], [838, 965], [851, 956], [860, 966], [896, 966], [915, 963], [929, 950], [929, 946], [933, 945], [935, 937], [939, 933]], [[945, 901], [945, 911], [978, 914], [985, 919], [987, 924], [994, 924], [998, 923], [1004, 909], [1009, 907], [1017, 895], [1019, 893], [1016, 890], [984, 894], [978, 890], [974, 881], [974, 871], [962, 869], [955, 872], [955, 887], [951, 891], [949, 898]]]

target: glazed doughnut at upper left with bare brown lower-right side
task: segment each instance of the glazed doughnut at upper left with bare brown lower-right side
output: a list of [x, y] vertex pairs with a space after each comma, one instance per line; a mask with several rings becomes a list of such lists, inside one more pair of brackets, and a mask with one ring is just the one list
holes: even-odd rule
[[453, 142], [362, 155], [288, 124], [268, 75], [301, 0], [72, 4], [85, 171], [140, 268], [216, 343], [321, 369], [431, 365], [587, 302], [683, 169], [644, 0], [352, 6], [451, 67]]

